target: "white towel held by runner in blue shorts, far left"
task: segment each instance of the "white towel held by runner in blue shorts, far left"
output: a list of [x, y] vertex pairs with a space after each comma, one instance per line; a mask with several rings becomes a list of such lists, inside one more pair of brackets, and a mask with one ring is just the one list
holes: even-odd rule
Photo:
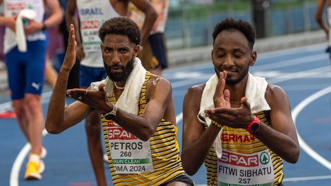
[[24, 33], [24, 25], [22, 19], [34, 19], [37, 17], [37, 12], [32, 9], [24, 9], [19, 12], [15, 21], [15, 35], [19, 52], [26, 52], [26, 34]]

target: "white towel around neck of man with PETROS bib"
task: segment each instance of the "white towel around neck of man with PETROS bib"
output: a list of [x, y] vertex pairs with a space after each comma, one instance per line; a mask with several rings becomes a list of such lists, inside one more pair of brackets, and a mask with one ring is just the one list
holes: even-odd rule
[[[134, 59], [134, 68], [126, 80], [126, 86], [124, 87], [121, 96], [119, 96], [119, 100], [117, 100], [115, 104], [117, 107], [119, 107], [121, 110], [125, 110], [130, 114], [138, 114], [139, 96], [141, 87], [145, 82], [145, 75], [146, 69], [143, 68], [143, 65], [141, 65], [140, 59], [136, 57]], [[107, 96], [112, 96], [112, 90], [114, 90], [113, 81], [107, 77], [103, 81], [91, 83], [91, 89], [99, 90], [100, 83], [106, 84], [105, 90], [107, 92]]]

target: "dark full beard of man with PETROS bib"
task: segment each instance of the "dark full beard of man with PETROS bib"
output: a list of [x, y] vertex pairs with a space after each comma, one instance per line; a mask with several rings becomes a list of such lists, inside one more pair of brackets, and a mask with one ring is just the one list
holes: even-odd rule
[[[106, 70], [107, 76], [109, 77], [110, 80], [112, 81], [126, 81], [126, 79], [128, 79], [128, 76], [130, 75], [130, 73], [132, 72], [133, 68], [134, 68], [134, 57], [132, 57], [130, 59], [130, 61], [128, 61], [128, 63], [126, 64], [126, 66], [121, 66], [121, 65], [112, 65], [112, 66], [108, 66], [106, 65], [105, 61], [103, 61], [103, 66]], [[121, 68], [123, 72], [121, 73], [112, 73], [111, 69], [112, 68]]]

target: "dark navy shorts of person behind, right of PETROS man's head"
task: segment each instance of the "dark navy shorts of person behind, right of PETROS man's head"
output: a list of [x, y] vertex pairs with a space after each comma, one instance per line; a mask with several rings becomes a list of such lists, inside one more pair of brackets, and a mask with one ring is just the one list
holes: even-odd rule
[[151, 34], [148, 37], [148, 42], [150, 42], [150, 48], [152, 48], [152, 52], [154, 57], [159, 61], [159, 64], [156, 68], [168, 67], [168, 51], [165, 45], [165, 38], [163, 33]]

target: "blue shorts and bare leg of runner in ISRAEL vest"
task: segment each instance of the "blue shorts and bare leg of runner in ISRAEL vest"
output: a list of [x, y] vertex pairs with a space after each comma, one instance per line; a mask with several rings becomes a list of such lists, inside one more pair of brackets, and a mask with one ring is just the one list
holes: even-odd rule
[[[80, 67], [81, 88], [90, 86], [94, 81], [101, 81], [107, 76], [103, 68]], [[103, 147], [101, 143], [101, 118], [97, 111], [91, 112], [85, 119], [86, 136], [88, 140], [88, 153], [92, 163], [97, 185], [106, 186], [106, 176], [103, 167]]]

